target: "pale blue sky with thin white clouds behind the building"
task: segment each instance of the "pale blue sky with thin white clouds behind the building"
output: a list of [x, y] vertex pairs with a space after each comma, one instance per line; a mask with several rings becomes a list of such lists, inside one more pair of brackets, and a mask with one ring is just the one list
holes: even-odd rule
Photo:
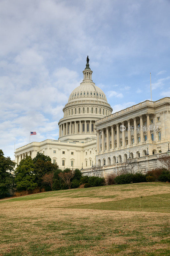
[[58, 139], [58, 121], [83, 79], [113, 112], [170, 96], [170, 0], [1, 0], [0, 149]]

